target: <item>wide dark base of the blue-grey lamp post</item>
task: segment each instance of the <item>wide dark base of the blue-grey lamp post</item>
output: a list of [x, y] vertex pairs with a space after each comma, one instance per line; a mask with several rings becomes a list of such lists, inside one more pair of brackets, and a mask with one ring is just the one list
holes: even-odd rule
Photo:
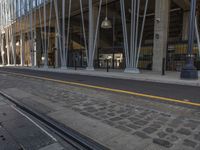
[[181, 79], [197, 80], [198, 79], [197, 69], [193, 65], [187, 64], [181, 70]]

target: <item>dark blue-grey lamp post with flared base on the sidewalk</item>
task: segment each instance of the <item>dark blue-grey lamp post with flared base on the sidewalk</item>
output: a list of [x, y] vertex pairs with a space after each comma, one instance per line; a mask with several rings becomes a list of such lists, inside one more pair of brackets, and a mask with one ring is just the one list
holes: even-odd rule
[[198, 79], [198, 71], [194, 66], [193, 43], [196, 15], [196, 0], [191, 0], [187, 64], [181, 70], [181, 79]]

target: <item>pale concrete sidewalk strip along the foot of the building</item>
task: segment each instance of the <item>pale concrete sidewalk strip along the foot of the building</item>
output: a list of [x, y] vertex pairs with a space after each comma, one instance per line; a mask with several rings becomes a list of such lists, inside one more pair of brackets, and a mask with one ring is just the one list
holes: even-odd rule
[[[14, 66], [6, 66], [12, 68]], [[49, 71], [49, 72], [60, 72], [68, 74], [78, 74], [78, 75], [88, 75], [97, 77], [108, 77], [117, 79], [129, 79], [138, 81], [148, 81], [148, 82], [158, 82], [166, 84], [179, 84], [179, 85], [189, 85], [189, 86], [200, 86], [200, 79], [198, 80], [182, 80], [180, 79], [180, 72], [166, 72], [166, 75], [162, 76], [158, 72], [145, 71], [142, 70], [140, 74], [125, 73], [123, 70], [113, 70], [110, 69], [106, 72], [105, 69], [96, 69], [95, 71], [88, 71], [85, 69], [78, 68], [68, 68], [66, 70], [60, 68], [32, 68], [32, 67], [14, 67], [18, 69], [31, 69], [39, 71]]]

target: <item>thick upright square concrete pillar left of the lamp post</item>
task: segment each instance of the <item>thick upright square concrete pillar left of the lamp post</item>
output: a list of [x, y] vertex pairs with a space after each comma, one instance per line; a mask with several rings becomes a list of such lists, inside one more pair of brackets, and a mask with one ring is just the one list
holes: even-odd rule
[[163, 58], [166, 58], [167, 52], [170, 0], [156, 0], [155, 2], [153, 71], [161, 73]]

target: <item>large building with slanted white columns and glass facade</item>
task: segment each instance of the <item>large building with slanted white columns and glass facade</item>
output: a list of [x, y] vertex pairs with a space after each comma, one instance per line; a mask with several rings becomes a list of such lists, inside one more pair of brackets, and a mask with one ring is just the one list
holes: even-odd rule
[[[180, 71], [189, 0], [0, 0], [0, 64]], [[193, 54], [200, 69], [198, 3]], [[164, 63], [163, 63], [164, 62]]]

